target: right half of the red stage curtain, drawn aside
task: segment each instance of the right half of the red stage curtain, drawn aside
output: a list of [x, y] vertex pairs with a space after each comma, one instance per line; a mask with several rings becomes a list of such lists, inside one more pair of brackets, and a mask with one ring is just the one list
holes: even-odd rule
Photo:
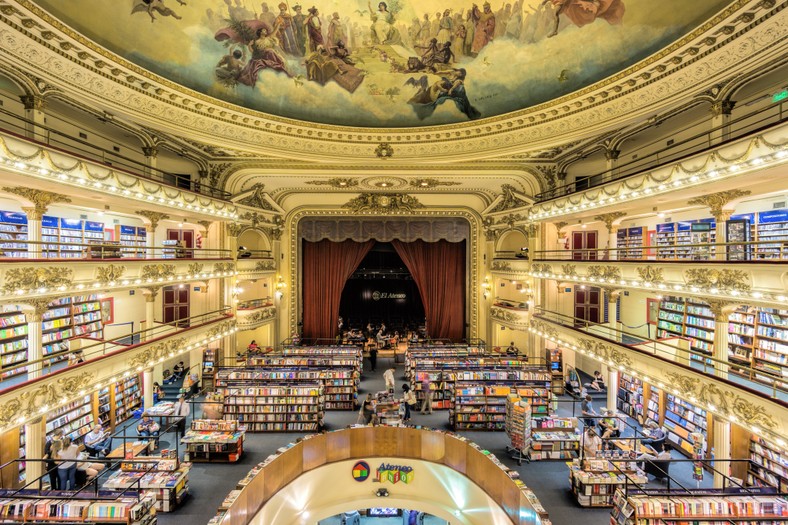
[[391, 241], [419, 287], [427, 333], [433, 339], [465, 338], [465, 241]]

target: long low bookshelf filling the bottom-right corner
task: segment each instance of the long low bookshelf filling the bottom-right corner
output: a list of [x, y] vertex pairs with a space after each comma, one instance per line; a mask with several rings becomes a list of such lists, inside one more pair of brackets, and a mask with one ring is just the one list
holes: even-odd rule
[[[611, 525], [662, 525], [664, 523], [783, 523], [788, 500], [782, 496], [725, 493], [719, 490], [659, 489], [618, 490], [613, 496]], [[770, 521], [776, 520], [776, 521]]]

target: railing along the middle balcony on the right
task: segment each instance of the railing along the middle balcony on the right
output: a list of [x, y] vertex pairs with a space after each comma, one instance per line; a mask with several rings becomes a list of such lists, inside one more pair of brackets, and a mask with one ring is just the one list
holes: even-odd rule
[[[718, 259], [717, 254], [721, 257]], [[660, 244], [626, 248], [571, 248], [541, 250], [529, 254], [499, 251], [496, 259], [550, 261], [710, 261], [779, 263], [788, 261], [788, 240], [699, 244]]]

